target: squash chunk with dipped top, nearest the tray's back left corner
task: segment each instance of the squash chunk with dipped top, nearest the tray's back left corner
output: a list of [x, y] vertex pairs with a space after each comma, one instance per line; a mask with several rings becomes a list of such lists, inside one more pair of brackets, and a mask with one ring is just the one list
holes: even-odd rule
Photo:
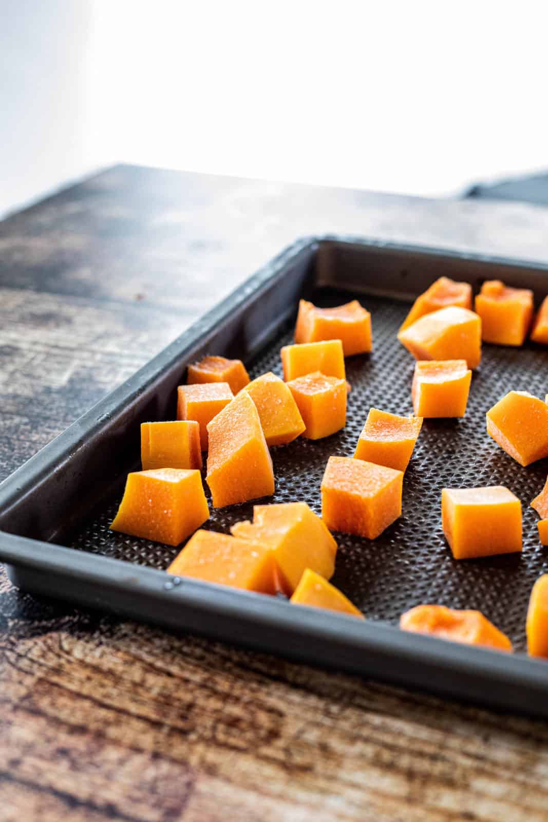
[[317, 343], [324, 339], [340, 339], [345, 357], [371, 351], [371, 314], [357, 300], [335, 308], [318, 308], [300, 300], [295, 342]]

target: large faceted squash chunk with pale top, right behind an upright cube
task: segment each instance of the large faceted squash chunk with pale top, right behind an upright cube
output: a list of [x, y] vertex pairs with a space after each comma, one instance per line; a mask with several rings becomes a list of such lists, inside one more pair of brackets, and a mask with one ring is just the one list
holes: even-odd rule
[[464, 359], [468, 368], [481, 360], [481, 320], [467, 308], [449, 307], [421, 316], [398, 333], [417, 360]]

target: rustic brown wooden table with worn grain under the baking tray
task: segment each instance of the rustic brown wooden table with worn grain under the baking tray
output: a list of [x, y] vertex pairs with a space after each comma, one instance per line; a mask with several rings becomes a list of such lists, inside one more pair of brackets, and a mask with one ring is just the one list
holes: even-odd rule
[[[297, 236], [548, 260], [548, 210], [116, 167], [0, 224], [0, 478]], [[440, 272], [442, 274], [443, 272]], [[0, 576], [0, 820], [548, 820], [548, 725]]]

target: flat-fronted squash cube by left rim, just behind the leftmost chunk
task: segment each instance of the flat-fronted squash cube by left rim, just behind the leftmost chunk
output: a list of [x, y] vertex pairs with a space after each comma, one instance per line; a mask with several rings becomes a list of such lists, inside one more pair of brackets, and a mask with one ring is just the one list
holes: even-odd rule
[[201, 468], [200, 424], [141, 423], [140, 461], [143, 471], [154, 468]]

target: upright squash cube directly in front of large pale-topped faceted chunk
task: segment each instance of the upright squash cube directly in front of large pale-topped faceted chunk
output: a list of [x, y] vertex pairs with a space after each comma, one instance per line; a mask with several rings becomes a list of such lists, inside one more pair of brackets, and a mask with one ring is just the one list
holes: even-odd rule
[[463, 417], [472, 372], [466, 360], [419, 360], [411, 396], [418, 417]]

